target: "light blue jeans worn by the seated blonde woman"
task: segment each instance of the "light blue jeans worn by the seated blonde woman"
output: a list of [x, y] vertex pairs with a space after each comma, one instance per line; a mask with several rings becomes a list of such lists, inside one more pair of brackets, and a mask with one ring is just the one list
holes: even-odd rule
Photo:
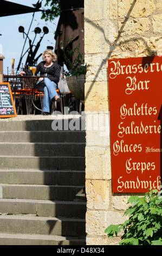
[[[39, 82], [37, 82], [38, 84]], [[44, 90], [44, 99], [43, 99], [43, 112], [50, 112], [50, 101], [57, 94], [56, 92], [56, 83], [51, 81], [49, 78], [44, 78], [44, 83], [41, 84], [42, 90]]]

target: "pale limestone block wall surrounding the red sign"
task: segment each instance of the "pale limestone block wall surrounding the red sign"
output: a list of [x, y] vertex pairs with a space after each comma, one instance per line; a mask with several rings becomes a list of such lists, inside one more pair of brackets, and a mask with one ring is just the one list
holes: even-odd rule
[[125, 221], [131, 196], [112, 193], [107, 60], [157, 55], [161, 20], [161, 0], [85, 1], [87, 245], [118, 244], [105, 229]]

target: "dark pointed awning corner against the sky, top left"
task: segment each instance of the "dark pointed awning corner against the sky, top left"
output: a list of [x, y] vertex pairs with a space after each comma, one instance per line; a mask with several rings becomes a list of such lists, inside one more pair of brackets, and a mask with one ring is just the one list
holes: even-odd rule
[[42, 11], [38, 9], [39, 7], [40, 6], [37, 5], [36, 8], [32, 8], [22, 4], [16, 4], [5, 0], [0, 0], [0, 17]]

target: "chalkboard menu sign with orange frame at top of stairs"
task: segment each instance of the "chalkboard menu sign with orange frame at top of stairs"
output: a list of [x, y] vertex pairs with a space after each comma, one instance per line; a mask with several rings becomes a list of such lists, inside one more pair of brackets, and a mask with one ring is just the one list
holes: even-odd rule
[[10, 84], [0, 83], [0, 118], [16, 116]]

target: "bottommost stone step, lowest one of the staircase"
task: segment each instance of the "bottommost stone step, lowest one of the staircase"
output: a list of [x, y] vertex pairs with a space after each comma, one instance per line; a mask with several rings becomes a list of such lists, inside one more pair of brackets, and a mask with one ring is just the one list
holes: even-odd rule
[[30, 235], [0, 233], [0, 245], [86, 245], [86, 239], [57, 235]]

